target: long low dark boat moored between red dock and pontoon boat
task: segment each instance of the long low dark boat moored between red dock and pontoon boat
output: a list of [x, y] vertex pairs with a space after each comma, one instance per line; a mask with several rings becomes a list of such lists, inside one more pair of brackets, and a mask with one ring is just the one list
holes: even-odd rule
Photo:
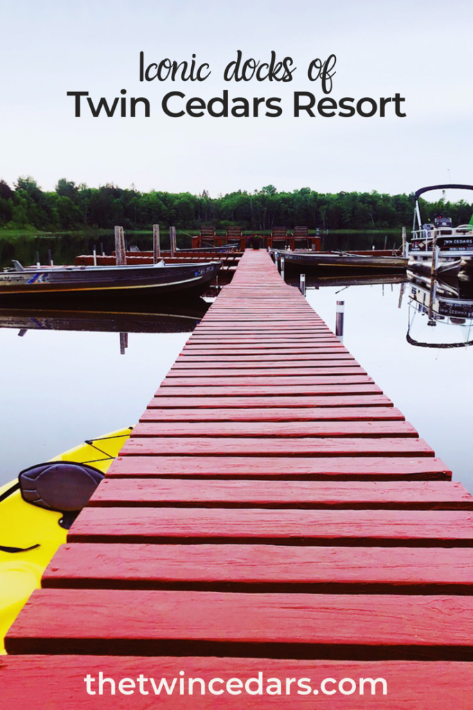
[[378, 256], [371, 252], [352, 253], [347, 251], [289, 251], [270, 249], [274, 261], [281, 263], [284, 258], [284, 268], [310, 269], [321, 273], [325, 270], [396, 272], [406, 271], [408, 259], [404, 256]]

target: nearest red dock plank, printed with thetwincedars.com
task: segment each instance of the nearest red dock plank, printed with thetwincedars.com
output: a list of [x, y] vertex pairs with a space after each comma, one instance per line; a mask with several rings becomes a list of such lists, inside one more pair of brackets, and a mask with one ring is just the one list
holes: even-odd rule
[[[179, 671], [185, 669], [186, 692], [179, 694]], [[255, 671], [255, 669], [257, 669]], [[243, 689], [242, 694], [228, 693], [226, 684], [230, 679], [248, 679], [258, 677], [262, 672], [262, 694], [249, 696]], [[116, 694], [111, 694], [110, 684], [104, 684], [104, 694], [99, 695], [97, 681], [99, 672], [103, 677], [112, 678], [116, 684]], [[84, 678], [91, 674], [95, 678], [93, 697], [85, 690]], [[140, 694], [138, 677], [144, 676], [147, 682], [145, 692], [151, 700]], [[220, 692], [221, 698], [209, 692], [208, 684], [213, 678], [222, 678], [213, 689]], [[473, 697], [473, 664], [469, 662], [443, 661], [330, 661], [318, 660], [316, 667], [312, 661], [279, 660], [254, 658], [206, 658], [206, 657], [110, 657], [90, 655], [65, 656], [1, 656], [0, 657], [1, 697], [5, 707], [16, 710], [140, 710], [145, 704], [153, 704], [154, 691], [150, 678], [159, 686], [166, 678], [169, 686], [176, 679], [172, 699], [169, 704], [173, 710], [189, 710], [194, 702], [200, 710], [215, 710], [219, 706], [226, 710], [241, 710], [248, 706], [257, 710], [445, 710], [450, 706], [455, 710], [471, 710]], [[45, 678], [48, 682], [45, 682]], [[134, 695], [119, 692], [118, 683], [122, 678], [131, 678], [135, 683]], [[204, 681], [205, 694], [201, 694], [199, 683], [194, 686], [194, 696], [189, 698], [189, 678], [201, 678]], [[278, 678], [282, 684], [282, 695], [274, 697], [268, 694], [269, 678]], [[310, 679], [313, 689], [307, 694], [298, 694], [301, 687], [296, 682], [286, 686], [286, 678]], [[327, 695], [321, 689], [325, 678], [333, 678], [324, 687], [326, 692], [338, 691], [338, 684], [343, 678], [355, 679], [357, 692], [347, 698], [338, 692]], [[377, 682], [372, 694], [371, 683], [364, 685], [360, 695], [360, 678], [386, 681], [386, 694], [383, 684]], [[130, 687], [130, 686], [128, 686]], [[257, 684], [249, 685], [258, 688]], [[235, 692], [235, 685], [230, 685]], [[346, 683], [343, 689], [350, 689]], [[305, 689], [302, 689], [306, 692]], [[317, 690], [318, 697], [314, 696]], [[165, 690], [162, 694], [167, 697]], [[320, 698], [320, 700], [318, 700]], [[296, 701], [294, 701], [296, 699]], [[190, 702], [192, 700], [192, 702]], [[165, 704], [165, 700], [162, 704]], [[159, 703], [158, 703], [159, 705]], [[152, 705], [150, 705], [152, 706]]]

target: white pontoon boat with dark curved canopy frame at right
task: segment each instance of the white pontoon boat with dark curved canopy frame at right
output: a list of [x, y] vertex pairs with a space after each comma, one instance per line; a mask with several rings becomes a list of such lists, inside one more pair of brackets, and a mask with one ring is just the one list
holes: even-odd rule
[[408, 245], [411, 255], [410, 268], [432, 271], [433, 266], [434, 273], [445, 273], [449, 271], [449, 262], [454, 263], [452, 271], [471, 271], [473, 268], [473, 217], [469, 224], [458, 226], [453, 226], [451, 217], [445, 217], [445, 214], [440, 212], [434, 215], [433, 222], [423, 222], [421, 217], [421, 195], [432, 190], [449, 189], [473, 190], [473, 185], [430, 185], [421, 187], [414, 195], [412, 239]]

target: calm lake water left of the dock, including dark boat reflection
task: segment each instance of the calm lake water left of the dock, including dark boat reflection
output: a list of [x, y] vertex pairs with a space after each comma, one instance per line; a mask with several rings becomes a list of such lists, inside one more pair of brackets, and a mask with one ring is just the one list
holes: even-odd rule
[[194, 298], [0, 307], [0, 485], [135, 424], [209, 306]]

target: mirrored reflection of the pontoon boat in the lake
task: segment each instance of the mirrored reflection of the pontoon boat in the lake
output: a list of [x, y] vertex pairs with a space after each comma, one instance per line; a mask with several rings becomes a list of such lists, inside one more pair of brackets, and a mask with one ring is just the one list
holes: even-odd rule
[[[409, 321], [407, 342], [425, 348], [473, 345], [473, 288], [458, 279], [443, 280], [408, 272]], [[428, 337], [415, 337], [418, 321], [430, 326]], [[461, 337], [459, 337], [461, 336]]]

